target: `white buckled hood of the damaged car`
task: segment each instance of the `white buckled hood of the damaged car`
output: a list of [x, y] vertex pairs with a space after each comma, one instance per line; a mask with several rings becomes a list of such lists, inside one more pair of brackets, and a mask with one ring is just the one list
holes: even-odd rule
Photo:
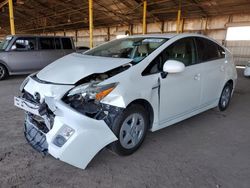
[[37, 77], [52, 83], [75, 84], [91, 74], [103, 73], [131, 61], [132, 59], [127, 58], [97, 57], [72, 53], [42, 69]]

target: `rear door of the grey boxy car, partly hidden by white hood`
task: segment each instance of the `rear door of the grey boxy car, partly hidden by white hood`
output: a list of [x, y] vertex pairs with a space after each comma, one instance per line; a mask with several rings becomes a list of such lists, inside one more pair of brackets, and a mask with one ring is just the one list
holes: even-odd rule
[[64, 56], [61, 40], [59, 37], [40, 37], [39, 50], [42, 57], [40, 68], [43, 68]]

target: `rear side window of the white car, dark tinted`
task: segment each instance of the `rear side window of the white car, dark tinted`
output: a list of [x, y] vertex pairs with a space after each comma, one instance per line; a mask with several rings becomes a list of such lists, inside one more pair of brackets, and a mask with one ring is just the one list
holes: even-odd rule
[[196, 37], [199, 62], [212, 61], [225, 57], [225, 50], [213, 41]]

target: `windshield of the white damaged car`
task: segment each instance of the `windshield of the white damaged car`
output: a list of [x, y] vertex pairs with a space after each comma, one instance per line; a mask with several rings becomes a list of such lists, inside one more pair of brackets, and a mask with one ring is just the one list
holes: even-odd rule
[[86, 55], [130, 58], [138, 63], [160, 47], [168, 39], [166, 38], [123, 38], [113, 40], [92, 50], [87, 51]]

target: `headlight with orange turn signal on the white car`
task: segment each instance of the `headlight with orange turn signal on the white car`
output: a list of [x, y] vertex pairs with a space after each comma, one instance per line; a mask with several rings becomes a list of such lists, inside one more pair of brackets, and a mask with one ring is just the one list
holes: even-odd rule
[[92, 82], [90, 84], [79, 85], [69, 92], [68, 97], [80, 94], [83, 98], [95, 99], [97, 101], [100, 101], [111, 91], [113, 91], [118, 83], [111, 83], [106, 85], [98, 84], [99, 82]]

